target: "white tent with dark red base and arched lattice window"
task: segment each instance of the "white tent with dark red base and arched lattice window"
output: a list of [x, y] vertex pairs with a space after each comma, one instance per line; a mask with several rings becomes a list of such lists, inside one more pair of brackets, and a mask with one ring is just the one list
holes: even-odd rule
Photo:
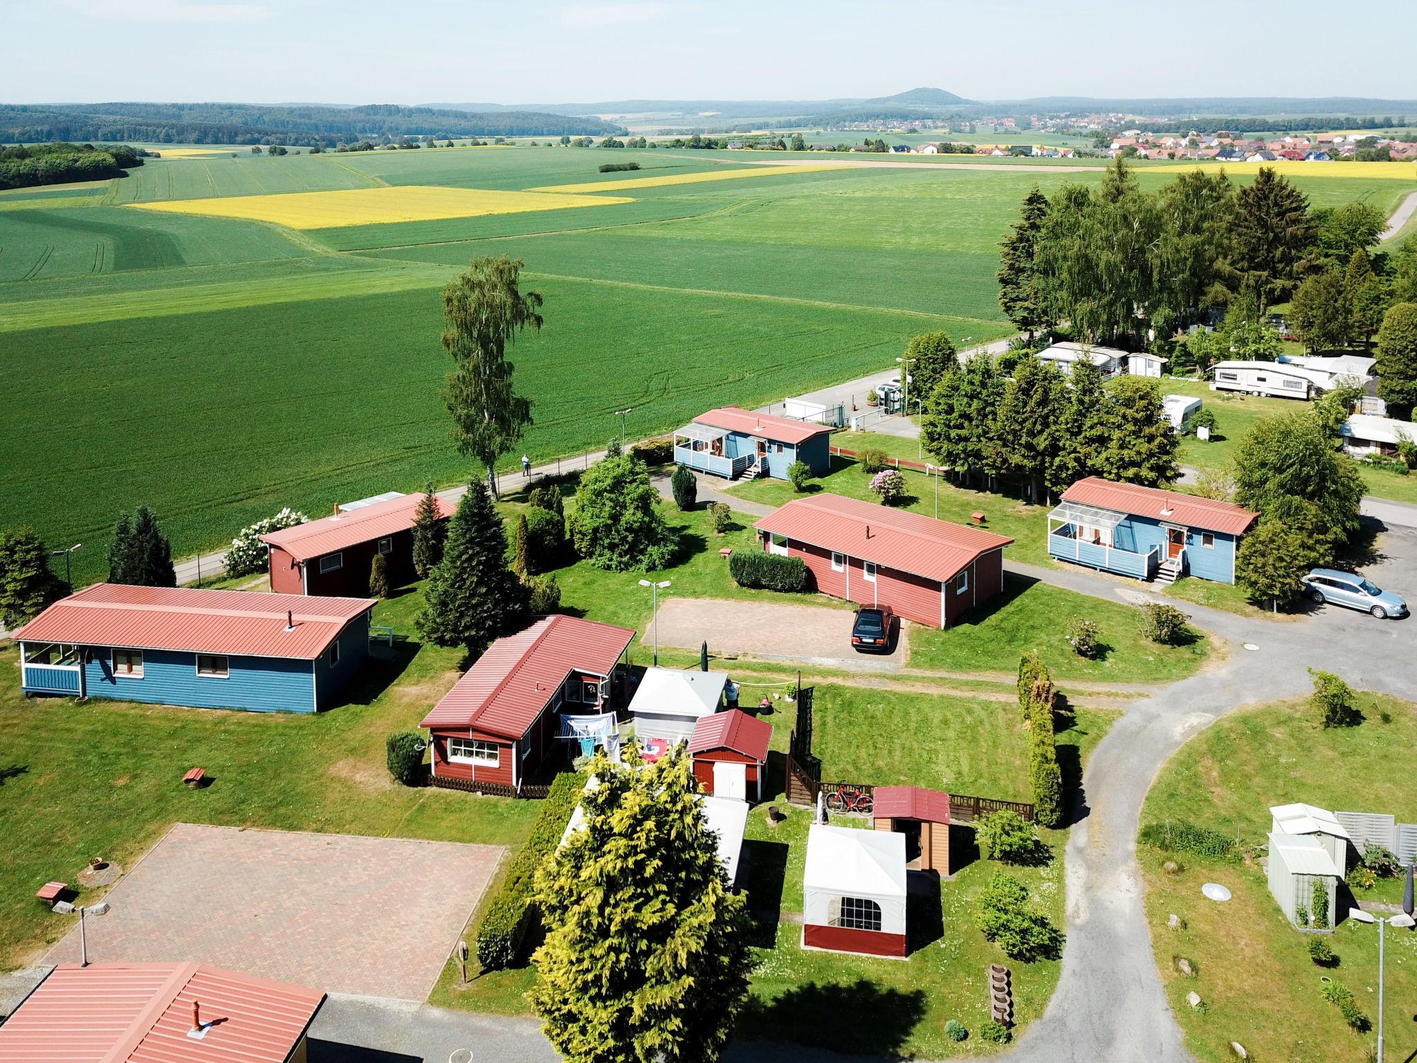
[[905, 835], [808, 828], [802, 874], [803, 944], [905, 954]]

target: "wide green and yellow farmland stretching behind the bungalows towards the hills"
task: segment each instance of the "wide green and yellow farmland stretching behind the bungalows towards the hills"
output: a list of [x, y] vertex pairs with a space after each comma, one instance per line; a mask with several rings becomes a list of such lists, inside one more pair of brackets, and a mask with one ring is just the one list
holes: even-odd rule
[[[472, 475], [438, 337], [441, 288], [476, 255], [523, 259], [546, 296], [512, 351], [536, 425], [507, 456], [541, 461], [598, 448], [625, 407], [643, 437], [876, 370], [918, 332], [1009, 334], [993, 272], [1019, 201], [1101, 179], [665, 149], [157, 149], [123, 179], [0, 196], [0, 418], [26, 427], [0, 526], [82, 541], [81, 580], [139, 503], [191, 554], [283, 505]], [[608, 160], [643, 169], [599, 174]], [[1408, 190], [1345, 174], [1295, 180], [1325, 204]], [[575, 203], [486, 213], [557, 197]]]

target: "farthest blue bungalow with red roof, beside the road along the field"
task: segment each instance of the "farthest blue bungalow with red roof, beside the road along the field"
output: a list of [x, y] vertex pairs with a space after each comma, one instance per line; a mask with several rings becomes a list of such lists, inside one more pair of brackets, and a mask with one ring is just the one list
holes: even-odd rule
[[832, 427], [735, 405], [710, 410], [674, 432], [674, 461], [726, 479], [788, 478], [794, 462], [815, 476], [832, 469]]

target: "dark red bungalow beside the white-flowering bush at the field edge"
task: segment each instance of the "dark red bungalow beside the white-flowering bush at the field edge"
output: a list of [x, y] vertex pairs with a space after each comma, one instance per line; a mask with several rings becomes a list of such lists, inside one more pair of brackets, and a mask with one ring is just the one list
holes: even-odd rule
[[[271, 551], [271, 590], [276, 594], [368, 594], [374, 556], [388, 561], [391, 587], [414, 573], [414, 519], [422, 495], [381, 495], [336, 506], [334, 513], [261, 536]], [[435, 496], [438, 516], [452, 503]]]

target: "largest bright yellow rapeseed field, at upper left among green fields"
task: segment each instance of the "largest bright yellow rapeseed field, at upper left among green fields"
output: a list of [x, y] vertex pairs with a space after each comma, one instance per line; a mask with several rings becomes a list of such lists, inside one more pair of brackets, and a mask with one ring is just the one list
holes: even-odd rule
[[570, 207], [604, 207], [606, 203], [633, 203], [633, 200], [619, 196], [553, 196], [536, 191], [395, 184], [381, 189], [292, 191], [273, 196], [228, 196], [207, 200], [129, 203], [126, 206], [135, 210], [160, 210], [173, 214], [213, 214], [221, 218], [272, 221], [288, 228], [340, 228], [344, 225], [383, 225], [394, 221], [473, 218], [483, 214], [523, 214]]

